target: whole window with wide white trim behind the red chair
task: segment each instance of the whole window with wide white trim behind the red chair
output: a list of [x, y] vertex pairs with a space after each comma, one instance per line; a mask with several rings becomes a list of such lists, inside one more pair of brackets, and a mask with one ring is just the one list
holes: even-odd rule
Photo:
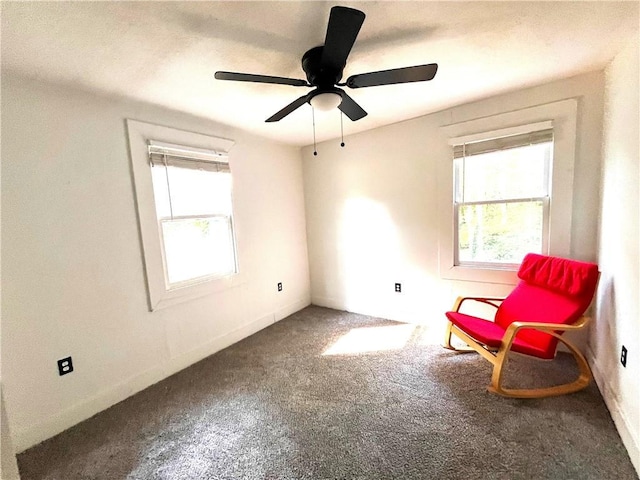
[[[483, 111], [443, 125], [443, 142], [432, 145], [433, 155], [442, 159], [439, 272], [447, 280], [513, 285], [525, 249], [572, 254], [578, 101]], [[449, 118], [469, 113], [454, 109]], [[545, 132], [552, 137], [545, 139]], [[518, 141], [530, 134], [537, 137]], [[500, 220], [487, 221], [496, 212]]]

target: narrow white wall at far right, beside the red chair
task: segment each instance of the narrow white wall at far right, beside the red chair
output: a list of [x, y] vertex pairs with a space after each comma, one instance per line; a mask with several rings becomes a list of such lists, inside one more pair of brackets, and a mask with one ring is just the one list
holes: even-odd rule
[[[640, 472], [640, 91], [634, 38], [605, 71], [600, 283], [590, 360], [603, 397]], [[620, 364], [622, 345], [627, 367]]]

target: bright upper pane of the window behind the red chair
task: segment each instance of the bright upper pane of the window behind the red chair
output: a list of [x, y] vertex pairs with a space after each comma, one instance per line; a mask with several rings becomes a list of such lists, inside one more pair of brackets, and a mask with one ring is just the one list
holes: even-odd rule
[[456, 199], [460, 202], [544, 197], [552, 143], [456, 159]]

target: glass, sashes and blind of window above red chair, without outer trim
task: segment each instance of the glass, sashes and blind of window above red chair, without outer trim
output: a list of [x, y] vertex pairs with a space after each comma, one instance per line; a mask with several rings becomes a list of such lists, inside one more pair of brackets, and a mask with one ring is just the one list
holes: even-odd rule
[[454, 264], [515, 267], [547, 253], [553, 130], [455, 145]]

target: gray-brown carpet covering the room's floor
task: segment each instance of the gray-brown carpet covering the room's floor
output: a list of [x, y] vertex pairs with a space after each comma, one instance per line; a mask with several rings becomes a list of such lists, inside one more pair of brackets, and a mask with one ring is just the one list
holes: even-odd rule
[[[423, 333], [308, 307], [20, 454], [22, 479], [638, 478], [597, 388], [498, 397]], [[540, 364], [511, 386], [574, 372]]]

